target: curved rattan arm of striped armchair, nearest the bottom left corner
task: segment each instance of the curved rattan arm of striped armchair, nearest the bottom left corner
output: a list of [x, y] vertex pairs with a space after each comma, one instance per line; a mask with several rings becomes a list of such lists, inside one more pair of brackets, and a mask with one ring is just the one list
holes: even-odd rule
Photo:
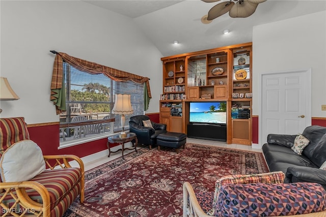
[[[43, 203], [35, 202], [30, 198], [30, 196], [26, 193], [26, 188], [33, 189], [37, 191]], [[0, 190], [4, 190], [0, 198], [0, 204], [3, 209], [6, 209], [9, 213], [14, 216], [17, 215], [16, 206], [8, 207], [3, 201], [6, 199], [8, 195], [12, 197], [12, 199], [17, 204], [21, 204], [24, 207], [24, 211], [26, 212], [36, 212], [38, 216], [50, 216], [50, 196], [46, 188], [36, 181], [21, 181], [21, 182], [1, 182]], [[15, 190], [15, 192], [13, 191]], [[1, 192], [1, 191], [0, 191]]]

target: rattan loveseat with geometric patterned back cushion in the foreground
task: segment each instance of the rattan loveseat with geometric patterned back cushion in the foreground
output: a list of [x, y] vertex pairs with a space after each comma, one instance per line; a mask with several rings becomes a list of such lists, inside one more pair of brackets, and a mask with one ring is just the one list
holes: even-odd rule
[[183, 184], [183, 217], [326, 216], [326, 192], [318, 183], [283, 183], [283, 172], [229, 175], [214, 192], [195, 193]]

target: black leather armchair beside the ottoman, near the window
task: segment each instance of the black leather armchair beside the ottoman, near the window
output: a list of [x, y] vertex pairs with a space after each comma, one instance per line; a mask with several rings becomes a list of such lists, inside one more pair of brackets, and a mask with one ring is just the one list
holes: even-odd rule
[[144, 127], [143, 120], [149, 120], [149, 117], [147, 115], [130, 117], [129, 131], [137, 135], [138, 143], [149, 145], [149, 149], [151, 149], [152, 145], [156, 145], [156, 137], [167, 132], [167, 125], [151, 121], [154, 128], [152, 129]]

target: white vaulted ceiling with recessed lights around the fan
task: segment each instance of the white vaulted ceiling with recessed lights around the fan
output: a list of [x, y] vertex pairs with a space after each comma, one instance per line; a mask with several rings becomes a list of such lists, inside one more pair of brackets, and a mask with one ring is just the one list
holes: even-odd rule
[[[222, 1], [225, 0], [220, 2]], [[84, 2], [130, 17], [163, 56], [251, 42], [253, 26], [326, 10], [324, 0], [267, 0], [259, 4], [250, 17], [231, 18], [226, 13], [209, 24], [203, 24], [201, 18], [220, 2], [205, 3], [200, 0]], [[223, 35], [224, 29], [230, 29], [231, 32]], [[175, 40], [179, 41], [178, 45], [173, 44]]]

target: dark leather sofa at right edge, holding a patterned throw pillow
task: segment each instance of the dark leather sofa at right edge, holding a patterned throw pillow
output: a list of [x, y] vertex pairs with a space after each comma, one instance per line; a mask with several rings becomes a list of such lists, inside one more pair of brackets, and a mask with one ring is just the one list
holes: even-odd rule
[[296, 135], [267, 136], [262, 151], [269, 170], [283, 171], [285, 183], [317, 182], [326, 189], [326, 170], [319, 169], [326, 161], [326, 127], [309, 126], [302, 135], [310, 141], [302, 155], [291, 149]]

